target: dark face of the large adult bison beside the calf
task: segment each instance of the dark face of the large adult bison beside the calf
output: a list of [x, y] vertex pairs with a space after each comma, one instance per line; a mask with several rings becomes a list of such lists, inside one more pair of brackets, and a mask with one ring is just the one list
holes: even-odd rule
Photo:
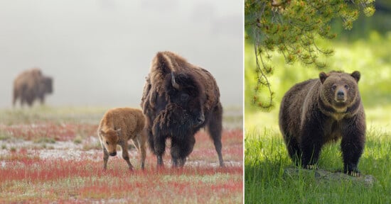
[[174, 76], [171, 72], [171, 87], [168, 88], [169, 103], [175, 103], [183, 111], [191, 115], [193, 126], [201, 126], [205, 122], [203, 110], [203, 98], [201, 98], [201, 89], [198, 81], [186, 74]]

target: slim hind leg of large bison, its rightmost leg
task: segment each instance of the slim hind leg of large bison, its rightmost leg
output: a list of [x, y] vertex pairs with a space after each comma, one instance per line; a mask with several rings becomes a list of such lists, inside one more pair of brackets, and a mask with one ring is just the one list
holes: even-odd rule
[[213, 111], [211, 118], [208, 122], [208, 132], [210, 134], [210, 137], [213, 139], [213, 143], [215, 145], [216, 152], [218, 152], [218, 161], [220, 162], [220, 166], [224, 166], [223, 161], [223, 155], [221, 154], [221, 131], [223, 129], [222, 127], [222, 120], [223, 120], [223, 108], [219, 104], [215, 107], [215, 110]]

